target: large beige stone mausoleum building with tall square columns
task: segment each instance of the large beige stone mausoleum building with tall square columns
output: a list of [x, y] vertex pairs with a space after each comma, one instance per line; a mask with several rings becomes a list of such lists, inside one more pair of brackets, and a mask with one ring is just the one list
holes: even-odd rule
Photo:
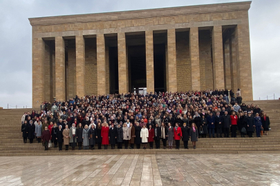
[[30, 18], [32, 106], [76, 94], [241, 88], [251, 1]]

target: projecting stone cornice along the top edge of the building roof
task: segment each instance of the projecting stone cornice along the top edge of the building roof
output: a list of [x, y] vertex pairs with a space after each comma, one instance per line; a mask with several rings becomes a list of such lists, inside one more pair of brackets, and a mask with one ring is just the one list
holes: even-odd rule
[[66, 23], [88, 23], [98, 21], [114, 21], [124, 19], [140, 19], [151, 17], [169, 17], [186, 14], [206, 14], [213, 12], [231, 12], [249, 10], [252, 1], [237, 3], [218, 3], [201, 6], [182, 6], [174, 8], [157, 8], [148, 10], [132, 10], [123, 12], [107, 12], [97, 14], [77, 14], [55, 17], [29, 18], [30, 25], [58, 25]]

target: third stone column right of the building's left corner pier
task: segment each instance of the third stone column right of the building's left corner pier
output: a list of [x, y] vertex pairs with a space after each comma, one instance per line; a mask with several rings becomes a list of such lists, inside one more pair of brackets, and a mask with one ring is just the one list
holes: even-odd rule
[[96, 35], [97, 48], [97, 94], [106, 94], [105, 38], [104, 34]]

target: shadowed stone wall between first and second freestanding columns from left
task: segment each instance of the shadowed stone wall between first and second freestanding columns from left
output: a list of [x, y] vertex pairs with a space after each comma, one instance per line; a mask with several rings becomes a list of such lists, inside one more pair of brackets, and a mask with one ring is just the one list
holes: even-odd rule
[[68, 47], [68, 67], [66, 79], [67, 99], [74, 98], [77, 94], [76, 81], [76, 48]]

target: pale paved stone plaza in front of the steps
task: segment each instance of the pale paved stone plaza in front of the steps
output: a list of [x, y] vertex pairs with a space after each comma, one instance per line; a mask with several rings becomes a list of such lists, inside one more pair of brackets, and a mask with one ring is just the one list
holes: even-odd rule
[[279, 154], [1, 157], [0, 185], [280, 185]]

